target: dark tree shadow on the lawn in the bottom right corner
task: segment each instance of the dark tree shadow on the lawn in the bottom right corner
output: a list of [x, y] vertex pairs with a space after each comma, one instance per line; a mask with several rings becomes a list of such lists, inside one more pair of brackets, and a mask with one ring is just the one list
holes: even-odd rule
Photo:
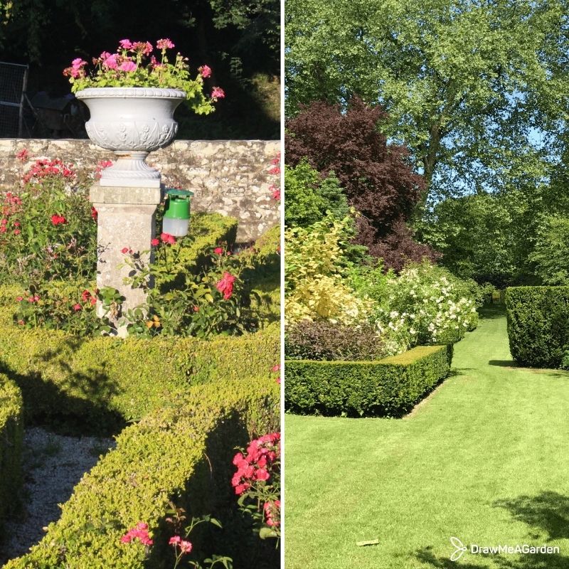
[[[508, 510], [516, 521], [521, 521], [530, 526], [528, 533], [528, 545], [542, 546], [549, 541], [569, 538], [569, 496], [558, 492], [545, 491], [536, 496], [519, 496], [514, 499], [497, 500], [493, 504], [497, 508]], [[546, 533], [544, 537], [543, 534]], [[480, 545], [499, 545], [501, 539], [496, 536], [496, 543]], [[516, 543], [507, 543], [516, 546]], [[519, 544], [523, 545], [523, 544]], [[441, 557], [432, 553], [432, 547], [424, 547], [415, 553], [415, 557], [425, 565], [435, 569], [463, 569], [496, 568], [496, 569], [569, 569], [569, 557], [559, 554], [522, 554], [517, 555], [479, 555], [475, 557], [468, 551], [464, 553], [459, 562], [450, 560], [452, 545], [449, 543], [449, 556]], [[484, 565], [469, 563], [475, 558], [478, 562], [486, 562]]]

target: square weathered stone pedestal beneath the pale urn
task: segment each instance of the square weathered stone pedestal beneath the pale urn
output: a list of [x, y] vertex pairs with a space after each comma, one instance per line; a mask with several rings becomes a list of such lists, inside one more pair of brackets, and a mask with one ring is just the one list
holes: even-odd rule
[[[146, 302], [142, 289], [124, 285], [130, 267], [124, 264], [127, 248], [141, 254], [146, 264], [151, 262], [150, 240], [154, 238], [154, 216], [161, 200], [161, 188], [101, 186], [91, 187], [90, 201], [97, 210], [97, 288], [112, 287], [126, 299], [123, 311], [136, 308]], [[143, 251], [150, 251], [142, 255]], [[100, 315], [102, 308], [99, 307]], [[119, 336], [126, 335], [126, 329], [118, 330]]]

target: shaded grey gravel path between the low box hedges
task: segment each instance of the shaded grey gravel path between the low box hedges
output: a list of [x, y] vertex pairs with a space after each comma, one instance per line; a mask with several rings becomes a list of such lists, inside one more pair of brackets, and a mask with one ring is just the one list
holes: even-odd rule
[[23, 441], [23, 512], [4, 526], [0, 566], [26, 553], [41, 540], [43, 528], [60, 516], [58, 504], [71, 496], [83, 474], [115, 440], [99, 437], [64, 437], [41, 428], [26, 429]]

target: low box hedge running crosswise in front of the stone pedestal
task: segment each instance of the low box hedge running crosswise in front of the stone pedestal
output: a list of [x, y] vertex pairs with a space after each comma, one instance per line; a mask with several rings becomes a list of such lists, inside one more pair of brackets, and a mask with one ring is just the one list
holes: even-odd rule
[[80, 418], [85, 431], [116, 432], [169, 405], [188, 386], [265, 376], [279, 361], [277, 324], [245, 336], [79, 339], [19, 329], [0, 312], [0, 372], [23, 393], [26, 420]]

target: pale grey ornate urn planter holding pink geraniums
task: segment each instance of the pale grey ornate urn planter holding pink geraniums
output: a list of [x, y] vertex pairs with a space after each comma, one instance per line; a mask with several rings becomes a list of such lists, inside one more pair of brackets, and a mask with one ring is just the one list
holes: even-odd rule
[[75, 97], [89, 108], [89, 138], [117, 156], [115, 164], [102, 171], [100, 186], [159, 188], [160, 173], [145, 159], [176, 136], [174, 110], [186, 93], [155, 87], [90, 87]]

